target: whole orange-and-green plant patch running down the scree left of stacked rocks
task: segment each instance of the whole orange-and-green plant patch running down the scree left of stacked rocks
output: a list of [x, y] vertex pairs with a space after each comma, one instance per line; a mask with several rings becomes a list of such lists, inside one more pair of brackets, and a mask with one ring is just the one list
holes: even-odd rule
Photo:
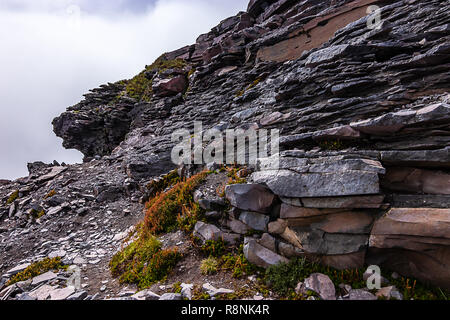
[[[162, 249], [155, 235], [175, 231], [191, 230], [201, 216], [201, 210], [194, 202], [192, 192], [206, 178], [202, 172], [180, 181], [173, 172], [166, 176], [156, 189], [173, 188], [157, 192], [146, 204], [146, 216], [137, 226], [137, 240], [118, 252], [110, 262], [111, 273], [121, 283], [136, 284], [139, 288], [150, 287], [165, 280], [182, 255], [176, 248]], [[176, 182], [178, 181], [178, 182]]]

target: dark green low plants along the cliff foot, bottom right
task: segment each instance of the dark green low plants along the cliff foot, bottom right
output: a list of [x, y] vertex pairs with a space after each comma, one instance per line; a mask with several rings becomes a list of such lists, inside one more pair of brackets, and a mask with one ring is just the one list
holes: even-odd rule
[[[353, 289], [361, 289], [366, 287], [366, 282], [363, 279], [364, 271], [364, 269], [336, 270], [310, 262], [304, 258], [297, 258], [287, 264], [280, 264], [268, 268], [263, 281], [280, 296], [291, 299], [305, 299], [311, 296], [312, 293], [309, 293], [306, 297], [302, 297], [298, 296], [294, 290], [299, 282], [303, 282], [313, 273], [327, 275], [333, 281], [336, 288], [338, 288], [339, 284], [345, 283], [351, 285]], [[383, 276], [389, 280], [391, 285], [395, 285], [399, 289], [405, 300], [447, 299], [448, 294], [442, 290], [419, 284], [417, 280], [405, 277], [395, 280], [387, 274]]]

